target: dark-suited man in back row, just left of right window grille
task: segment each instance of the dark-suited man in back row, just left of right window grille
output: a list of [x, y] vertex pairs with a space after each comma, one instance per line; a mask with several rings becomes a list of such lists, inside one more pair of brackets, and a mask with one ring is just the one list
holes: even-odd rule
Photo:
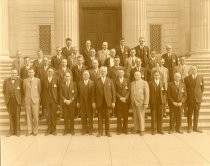
[[147, 67], [147, 60], [149, 58], [149, 47], [145, 45], [143, 37], [139, 38], [139, 45], [135, 47], [136, 57], [142, 61], [142, 67]]

